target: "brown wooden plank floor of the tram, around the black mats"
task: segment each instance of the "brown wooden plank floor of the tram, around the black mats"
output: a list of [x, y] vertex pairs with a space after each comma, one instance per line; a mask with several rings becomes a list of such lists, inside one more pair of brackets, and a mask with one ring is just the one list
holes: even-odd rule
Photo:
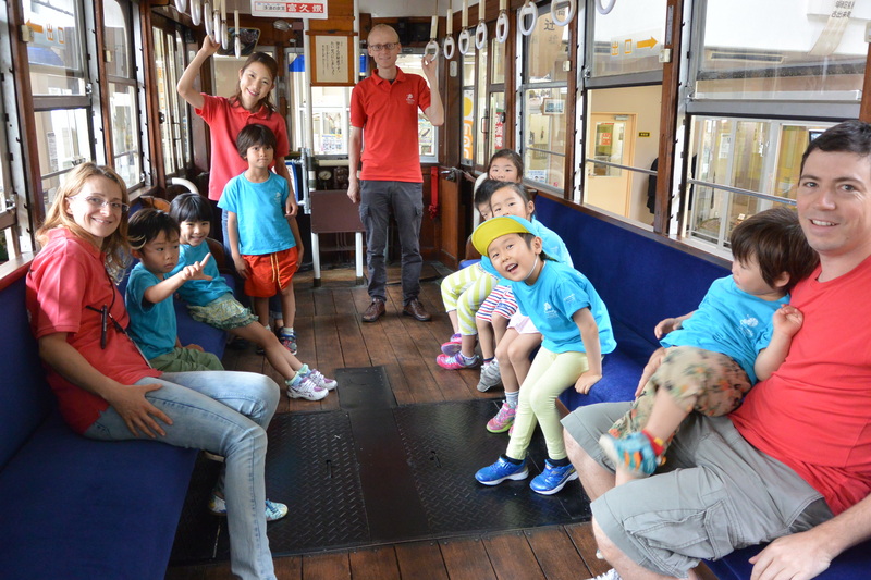
[[[369, 306], [365, 286], [356, 285], [353, 269], [322, 272], [314, 287], [311, 272], [294, 277], [298, 358], [328, 377], [344, 367], [381, 365], [400, 405], [498, 398], [502, 390], [479, 393], [477, 370], [445, 371], [436, 365], [439, 347], [452, 333], [441, 301], [439, 280], [450, 273], [440, 264], [426, 264], [420, 300], [432, 314], [431, 322], [402, 316], [398, 269], [388, 276], [387, 314], [366, 324], [360, 314]], [[257, 356], [254, 348], [228, 349], [224, 366], [231, 370], [265, 372], [281, 384], [281, 378]], [[341, 388], [341, 386], [340, 386]], [[278, 412], [311, 412], [338, 409], [331, 394], [311, 403], [282, 396]], [[596, 558], [589, 523], [513, 530], [439, 541], [409, 542], [367, 548], [320, 552], [275, 558], [280, 580], [291, 579], [586, 579], [608, 570]], [[229, 563], [170, 568], [170, 580], [218, 580], [232, 578]]]

